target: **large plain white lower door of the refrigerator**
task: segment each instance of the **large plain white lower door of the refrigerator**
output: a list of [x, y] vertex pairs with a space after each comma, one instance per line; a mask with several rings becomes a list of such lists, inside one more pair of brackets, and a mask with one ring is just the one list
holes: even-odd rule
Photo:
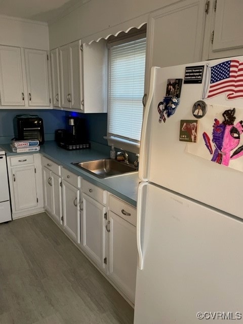
[[134, 323], [195, 324], [197, 312], [243, 315], [242, 221], [161, 187], [140, 186], [143, 269]]

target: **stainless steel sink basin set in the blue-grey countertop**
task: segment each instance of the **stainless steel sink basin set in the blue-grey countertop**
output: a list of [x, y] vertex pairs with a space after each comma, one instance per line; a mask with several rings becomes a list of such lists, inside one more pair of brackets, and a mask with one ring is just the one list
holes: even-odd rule
[[137, 171], [137, 168], [131, 164], [119, 162], [110, 158], [85, 162], [73, 162], [72, 164], [80, 169], [98, 176], [99, 178], [107, 178]]

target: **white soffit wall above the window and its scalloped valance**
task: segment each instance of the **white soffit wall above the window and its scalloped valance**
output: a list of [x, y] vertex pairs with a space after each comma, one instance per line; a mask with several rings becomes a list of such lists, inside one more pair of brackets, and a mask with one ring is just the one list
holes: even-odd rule
[[49, 25], [50, 49], [101, 31], [105, 37], [112, 26], [140, 16], [144, 16], [146, 22], [151, 11], [174, 2], [176, 0], [91, 0]]

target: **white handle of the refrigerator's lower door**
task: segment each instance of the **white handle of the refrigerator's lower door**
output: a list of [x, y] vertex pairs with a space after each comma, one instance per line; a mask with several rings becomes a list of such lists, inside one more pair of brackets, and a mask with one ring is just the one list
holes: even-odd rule
[[143, 187], [147, 182], [140, 182], [138, 186], [138, 203], [137, 203], [137, 248], [138, 248], [138, 268], [143, 269], [143, 251], [141, 244], [141, 213], [142, 213], [142, 193]]

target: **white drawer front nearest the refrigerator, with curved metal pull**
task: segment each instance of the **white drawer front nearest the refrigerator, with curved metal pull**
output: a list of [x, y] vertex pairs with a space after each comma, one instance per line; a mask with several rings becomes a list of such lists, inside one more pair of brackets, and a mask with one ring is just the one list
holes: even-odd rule
[[134, 226], [137, 225], [137, 210], [135, 207], [125, 203], [125, 201], [109, 195], [109, 209]]

